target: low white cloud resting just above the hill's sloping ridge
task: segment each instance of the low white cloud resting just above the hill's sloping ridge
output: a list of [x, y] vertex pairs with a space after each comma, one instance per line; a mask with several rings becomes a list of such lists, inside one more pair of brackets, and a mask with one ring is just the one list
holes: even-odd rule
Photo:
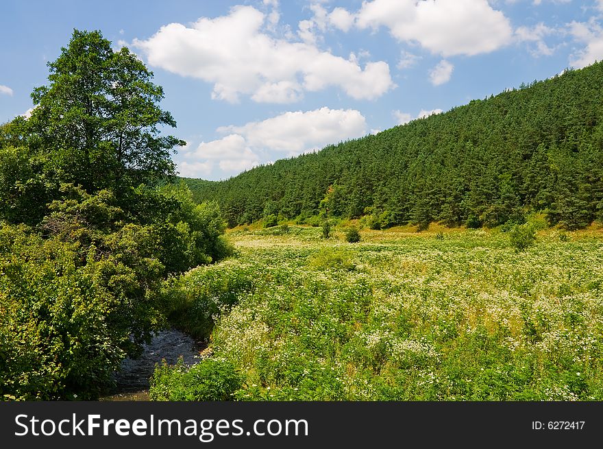
[[223, 138], [182, 152], [180, 173], [195, 178], [207, 178], [217, 172], [223, 177], [236, 175], [276, 158], [297, 156], [363, 136], [366, 128], [365, 117], [358, 110], [330, 108], [285, 112], [243, 126], [223, 126], [217, 130], [225, 134]]

